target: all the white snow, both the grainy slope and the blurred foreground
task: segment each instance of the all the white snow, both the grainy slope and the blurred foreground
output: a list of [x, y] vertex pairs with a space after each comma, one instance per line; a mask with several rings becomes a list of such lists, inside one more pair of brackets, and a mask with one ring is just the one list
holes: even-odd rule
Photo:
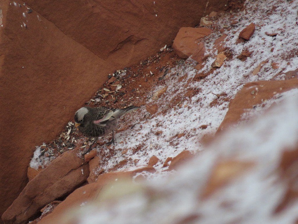
[[[134, 128], [116, 132], [114, 147], [117, 153], [100, 166], [100, 169], [109, 170], [122, 160], [136, 161], [136, 164], [128, 163], [122, 168], [130, 171], [136, 166], [146, 166], [154, 155], [159, 158], [154, 166], [157, 172], [143, 172], [148, 181], [142, 184], [125, 183], [121, 197], [119, 188], [113, 185], [110, 190], [113, 192], [114, 189], [117, 197], [102, 200], [102, 196], [95, 202], [84, 202], [73, 213], [77, 223], [184, 223], [188, 217], [194, 217], [194, 223], [201, 224], [294, 223], [298, 213], [297, 200], [278, 214], [274, 211], [287, 191], [287, 185], [280, 181], [277, 172], [283, 150], [297, 148], [298, 143], [298, 89], [276, 94], [264, 102], [265, 106], [256, 105], [254, 110], [247, 110], [234, 129], [218, 136], [209, 146], [202, 145], [200, 137], [215, 134], [228, 111], [228, 102], [222, 98], [218, 99], [218, 105], [212, 106], [217, 99], [214, 94], [225, 93], [226, 98], [232, 99], [247, 82], [270, 80], [279, 72], [298, 68], [297, 10], [297, 0], [246, 1], [245, 10], [235, 13], [232, 18], [240, 20], [237, 26], [224, 32], [228, 36], [225, 43], [232, 59], [227, 59], [224, 66], [199, 81], [192, 81], [198, 71], [191, 59], [172, 68], [166, 79], [167, 92], [159, 99], [164, 103], [158, 108], [157, 115], [143, 119], [148, 114], [144, 107], [126, 115], [126, 119], [135, 124]], [[224, 15], [215, 22], [223, 27], [232, 19]], [[238, 34], [251, 22], [256, 24], [254, 35], [249, 41], [236, 45]], [[271, 37], [265, 32], [278, 35]], [[200, 73], [211, 71], [210, 65], [215, 59], [212, 46], [219, 35], [215, 33], [206, 38], [209, 43], [205, 46], [211, 49], [207, 50], [210, 57]], [[245, 49], [252, 55], [243, 62], [236, 57]], [[265, 63], [260, 71], [252, 75], [262, 62]], [[272, 62], [277, 62], [279, 68], [273, 69]], [[184, 78], [181, 80], [181, 77]], [[154, 103], [151, 96], [163, 87], [156, 86], [148, 91], [146, 104]], [[184, 93], [191, 89], [198, 91], [190, 98], [184, 97]], [[181, 99], [181, 108], [168, 107], [167, 103], [177, 98]], [[277, 105], [270, 107], [274, 102]], [[159, 113], [162, 111], [166, 113]], [[208, 127], [198, 128], [201, 125]], [[156, 135], [157, 131], [162, 134]], [[178, 139], [178, 134], [185, 135]], [[122, 154], [123, 149], [128, 149], [127, 153]], [[109, 153], [106, 147], [97, 147], [97, 150]], [[162, 167], [164, 161], [184, 150], [200, 153], [179, 171], [163, 172], [167, 169]], [[41, 148], [37, 147], [30, 167], [40, 166], [41, 161], [37, 161], [40, 154]], [[202, 199], [204, 187], [219, 159], [253, 162], [253, 166], [210, 197]], [[117, 184], [123, 183], [117, 181]]]

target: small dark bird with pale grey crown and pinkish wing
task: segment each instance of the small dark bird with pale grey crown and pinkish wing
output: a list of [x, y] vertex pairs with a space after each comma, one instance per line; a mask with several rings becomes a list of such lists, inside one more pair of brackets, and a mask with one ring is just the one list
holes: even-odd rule
[[[80, 132], [86, 137], [94, 137], [94, 142], [90, 145], [88, 151], [97, 142], [98, 137], [112, 132], [112, 140], [108, 145], [114, 143], [114, 129], [119, 120], [127, 113], [140, 107], [129, 106], [124, 109], [109, 109], [107, 107], [82, 107], [75, 113], [75, 127], [79, 127]], [[115, 143], [114, 143], [115, 144]], [[85, 153], [85, 154], [86, 154]]]

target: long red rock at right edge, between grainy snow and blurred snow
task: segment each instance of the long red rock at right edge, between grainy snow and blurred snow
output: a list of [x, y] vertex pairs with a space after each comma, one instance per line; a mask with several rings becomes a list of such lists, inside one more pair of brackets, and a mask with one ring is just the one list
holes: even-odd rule
[[[252, 94], [257, 88], [257, 94]], [[246, 83], [229, 103], [229, 110], [217, 130], [217, 134], [237, 124], [243, 113], [254, 105], [272, 99], [276, 93], [298, 88], [298, 79], [271, 80]]]

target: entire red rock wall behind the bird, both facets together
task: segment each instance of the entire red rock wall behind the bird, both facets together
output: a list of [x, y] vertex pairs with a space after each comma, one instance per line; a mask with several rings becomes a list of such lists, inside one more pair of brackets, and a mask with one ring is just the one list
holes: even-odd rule
[[226, 2], [1, 1], [0, 214], [26, 185], [34, 146], [57, 136], [108, 73]]

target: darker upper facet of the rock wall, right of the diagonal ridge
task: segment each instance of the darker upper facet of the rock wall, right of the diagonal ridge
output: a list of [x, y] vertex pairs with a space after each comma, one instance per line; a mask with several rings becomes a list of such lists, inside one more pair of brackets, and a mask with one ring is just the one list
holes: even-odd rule
[[79, 1], [71, 6], [65, 0], [51, 4], [37, 0], [26, 3], [67, 36], [121, 68], [154, 54], [165, 44], [171, 45], [182, 24], [198, 24], [212, 10], [224, 9], [227, 1], [172, 4], [171, 1], [97, 0]]

